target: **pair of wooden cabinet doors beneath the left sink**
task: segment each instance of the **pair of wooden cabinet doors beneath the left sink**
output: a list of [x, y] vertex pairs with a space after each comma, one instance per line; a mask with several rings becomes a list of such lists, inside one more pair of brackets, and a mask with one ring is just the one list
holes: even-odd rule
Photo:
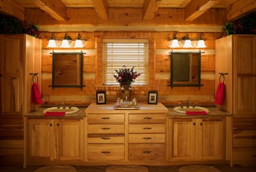
[[27, 123], [28, 164], [33, 160], [83, 160], [83, 119], [29, 118]]

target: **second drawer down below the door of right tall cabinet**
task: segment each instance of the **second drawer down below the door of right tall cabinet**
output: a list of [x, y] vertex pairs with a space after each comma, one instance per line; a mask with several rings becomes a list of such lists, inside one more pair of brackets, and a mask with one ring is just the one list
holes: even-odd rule
[[256, 130], [234, 130], [233, 147], [256, 147]]

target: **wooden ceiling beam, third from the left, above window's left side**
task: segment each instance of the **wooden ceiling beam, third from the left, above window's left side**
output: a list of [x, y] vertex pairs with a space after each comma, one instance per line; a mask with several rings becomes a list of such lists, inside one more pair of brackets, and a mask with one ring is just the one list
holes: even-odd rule
[[[109, 13], [109, 8], [108, 8], [108, 1], [106, 0], [92, 0], [93, 6], [97, 12], [97, 15], [102, 20], [108, 20], [108, 13]], [[92, 18], [93, 20], [93, 18]]]

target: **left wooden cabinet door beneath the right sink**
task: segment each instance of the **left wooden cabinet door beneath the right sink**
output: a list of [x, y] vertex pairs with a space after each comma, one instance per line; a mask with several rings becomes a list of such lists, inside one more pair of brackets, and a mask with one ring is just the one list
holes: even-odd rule
[[196, 123], [193, 118], [170, 119], [170, 160], [194, 160]]

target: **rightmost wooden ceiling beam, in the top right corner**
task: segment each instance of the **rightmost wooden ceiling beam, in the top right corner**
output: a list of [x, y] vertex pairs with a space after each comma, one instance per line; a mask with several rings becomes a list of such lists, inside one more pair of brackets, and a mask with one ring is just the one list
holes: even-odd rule
[[256, 10], [256, 0], [239, 0], [226, 8], [227, 20], [232, 21]]

